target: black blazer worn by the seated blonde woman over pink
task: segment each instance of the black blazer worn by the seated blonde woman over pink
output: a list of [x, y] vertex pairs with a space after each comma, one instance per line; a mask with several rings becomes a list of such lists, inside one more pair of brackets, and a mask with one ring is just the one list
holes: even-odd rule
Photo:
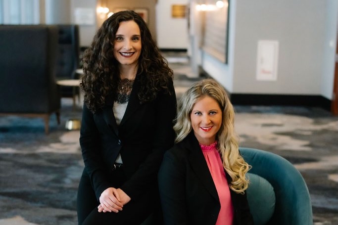
[[[216, 224], [221, 205], [193, 132], [165, 153], [158, 176], [165, 225]], [[230, 193], [234, 225], [253, 225], [246, 193]]]

